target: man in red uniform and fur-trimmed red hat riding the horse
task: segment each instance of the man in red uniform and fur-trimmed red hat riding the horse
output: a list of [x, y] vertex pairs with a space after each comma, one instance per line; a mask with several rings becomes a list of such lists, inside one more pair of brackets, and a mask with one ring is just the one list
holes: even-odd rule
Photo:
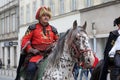
[[[56, 28], [48, 23], [51, 19], [50, 8], [39, 8], [36, 13], [36, 19], [39, 22], [28, 27], [21, 44], [22, 50], [24, 50], [27, 55], [33, 54], [29, 59], [25, 80], [33, 80], [37, 69], [36, 63], [43, 59], [44, 52], [58, 39]], [[41, 52], [43, 54], [40, 54]]]

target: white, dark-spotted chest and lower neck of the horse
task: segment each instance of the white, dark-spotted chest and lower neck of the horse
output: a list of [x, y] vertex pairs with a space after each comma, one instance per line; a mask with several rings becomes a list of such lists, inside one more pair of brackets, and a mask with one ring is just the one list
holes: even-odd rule
[[66, 52], [68, 51], [64, 50], [59, 63], [55, 67], [48, 67], [42, 80], [74, 80], [72, 74], [74, 61], [70, 54], [66, 54]]

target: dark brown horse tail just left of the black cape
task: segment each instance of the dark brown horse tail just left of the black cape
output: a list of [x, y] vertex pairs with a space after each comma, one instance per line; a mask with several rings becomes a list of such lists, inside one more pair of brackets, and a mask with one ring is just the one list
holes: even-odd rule
[[100, 60], [99, 63], [94, 68], [90, 80], [99, 80], [102, 64], [103, 64], [103, 60]]

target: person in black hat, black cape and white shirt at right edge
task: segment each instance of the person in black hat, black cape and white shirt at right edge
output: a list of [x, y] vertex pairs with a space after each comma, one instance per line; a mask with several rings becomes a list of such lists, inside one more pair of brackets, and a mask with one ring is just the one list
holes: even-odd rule
[[[107, 80], [108, 66], [110, 65], [110, 58], [113, 58], [116, 52], [120, 51], [120, 17], [114, 20], [114, 26], [117, 26], [118, 29], [111, 31], [109, 33], [108, 41], [106, 43], [104, 51], [104, 61], [102, 66], [102, 71], [100, 73], [99, 80]], [[116, 47], [117, 46], [117, 47]], [[116, 66], [111, 70], [111, 80], [118, 80], [117, 76], [120, 74], [120, 67]]]

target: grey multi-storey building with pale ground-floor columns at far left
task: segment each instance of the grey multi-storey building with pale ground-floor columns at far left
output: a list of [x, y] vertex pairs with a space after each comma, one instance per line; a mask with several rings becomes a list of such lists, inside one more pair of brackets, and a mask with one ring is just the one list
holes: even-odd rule
[[17, 67], [18, 0], [0, 0], [0, 58], [4, 68]]

